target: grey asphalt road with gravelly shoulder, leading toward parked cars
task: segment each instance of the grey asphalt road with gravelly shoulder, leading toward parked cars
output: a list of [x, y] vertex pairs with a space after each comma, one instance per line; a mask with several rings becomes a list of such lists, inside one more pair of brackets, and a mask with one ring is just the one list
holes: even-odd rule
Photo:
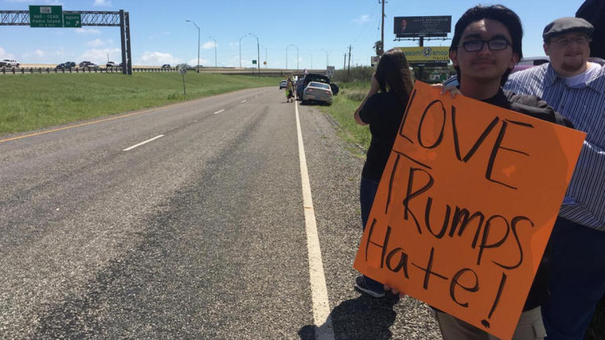
[[421, 302], [353, 289], [363, 159], [298, 106], [306, 207], [295, 105], [260, 88], [0, 137], [0, 338], [440, 339]]

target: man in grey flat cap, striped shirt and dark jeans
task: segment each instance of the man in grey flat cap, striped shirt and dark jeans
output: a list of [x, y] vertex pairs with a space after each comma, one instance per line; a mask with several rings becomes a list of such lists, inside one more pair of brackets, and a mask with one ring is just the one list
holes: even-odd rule
[[605, 67], [589, 62], [593, 26], [560, 18], [543, 31], [549, 64], [511, 74], [506, 90], [541, 97], [586, 132], [551, 236], [548, 339], [583, 339], [605, 293]]

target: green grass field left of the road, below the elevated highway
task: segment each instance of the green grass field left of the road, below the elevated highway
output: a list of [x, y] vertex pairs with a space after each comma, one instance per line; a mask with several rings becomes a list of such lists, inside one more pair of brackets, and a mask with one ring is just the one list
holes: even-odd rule
[[[278, 86], [278, 78], [189, 72], [186, 99], [244, 88]], [[0, 134], [180, 102], [178, 73], [27, 74], [0, 76]]]

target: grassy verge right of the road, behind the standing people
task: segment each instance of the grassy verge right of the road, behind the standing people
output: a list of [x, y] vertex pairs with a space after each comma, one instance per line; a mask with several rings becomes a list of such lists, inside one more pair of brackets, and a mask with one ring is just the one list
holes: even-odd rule
[[[370, 90], [370, 82], [339, 83], [339, 86], [341, 92], [334, 98], [332, 106], [324, 106], [321, 110], [341, 126], [341, 135], [346, 142], [357, 144], [367, 150], [371, 140], [370, 129], [368, 126], [357, 125], [353, 120], [353, 113]], [[359, 151], [355, 151], [355, 154], [359, 155]], [[605, 339], [605, 296], [598, 303], [585, 336], [585, 340], [603, 339]]]

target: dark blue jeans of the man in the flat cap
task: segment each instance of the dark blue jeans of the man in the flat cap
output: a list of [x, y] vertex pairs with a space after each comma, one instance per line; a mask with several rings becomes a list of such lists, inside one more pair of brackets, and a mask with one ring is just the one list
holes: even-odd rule
[[551, 299], [543, 306], [548, 339], [584, 339], [605, 294], [605, 232], [557, 218], [551, 235]]

